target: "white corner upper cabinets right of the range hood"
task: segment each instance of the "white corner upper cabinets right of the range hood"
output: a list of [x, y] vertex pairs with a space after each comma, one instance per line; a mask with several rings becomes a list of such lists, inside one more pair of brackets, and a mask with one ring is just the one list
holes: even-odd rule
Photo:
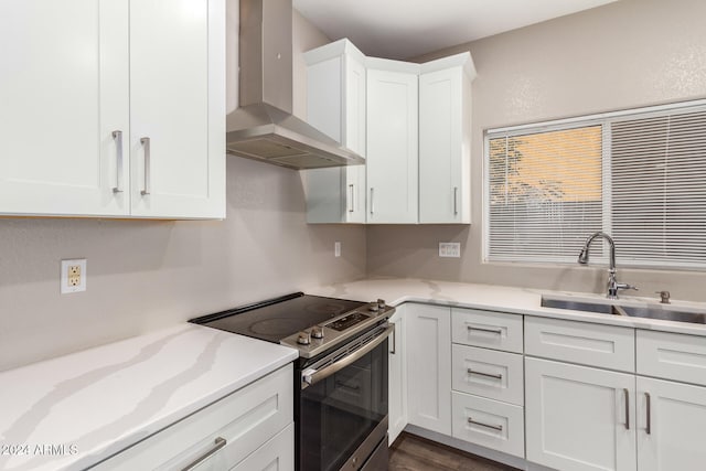
[[308, 121], [366, 158], [302, 172], [307, 221], [469, 224], [470, 53], [413, 64], [340, 40], [304, 56]]

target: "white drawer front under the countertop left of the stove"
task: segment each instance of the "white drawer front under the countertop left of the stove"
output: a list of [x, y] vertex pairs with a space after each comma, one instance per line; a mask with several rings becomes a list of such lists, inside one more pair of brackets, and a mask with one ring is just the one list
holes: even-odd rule
[[229, 469], [282, 430], [293, 417], [292, 365], [206, 406], [103, 461], [96, 470], [181, 469], [213, 449], [225, 447], [199, 469]]

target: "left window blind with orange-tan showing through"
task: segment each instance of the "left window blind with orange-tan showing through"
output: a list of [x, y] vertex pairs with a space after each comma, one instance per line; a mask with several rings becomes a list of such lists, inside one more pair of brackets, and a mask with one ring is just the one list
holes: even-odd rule
[[492, 259], [575, 261], [601, 228], [601, 127], [490, 139], [489, 189]]

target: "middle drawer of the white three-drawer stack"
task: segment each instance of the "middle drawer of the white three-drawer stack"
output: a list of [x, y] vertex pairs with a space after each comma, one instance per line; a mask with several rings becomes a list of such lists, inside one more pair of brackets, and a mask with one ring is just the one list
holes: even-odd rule
[[453, 344], [451, 356], [453, 389], [522, 406], [522, 355]]

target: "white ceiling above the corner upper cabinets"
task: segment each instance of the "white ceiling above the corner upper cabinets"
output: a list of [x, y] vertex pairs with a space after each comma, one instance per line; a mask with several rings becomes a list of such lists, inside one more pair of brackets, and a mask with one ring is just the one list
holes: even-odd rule
[[293, 0], [332, 41], [409, 58], [617, 0]]

